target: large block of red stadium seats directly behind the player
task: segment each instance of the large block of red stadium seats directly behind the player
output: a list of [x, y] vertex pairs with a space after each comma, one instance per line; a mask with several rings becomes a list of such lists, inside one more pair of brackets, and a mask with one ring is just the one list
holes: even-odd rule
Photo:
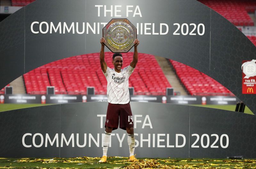
[[[99, 53], [78, 55], [36, 68], [23, 75], [28, 94], [45, 94], [46, 86], [55, 86], [55, 94], [86, 94], [86, 87], [95, 87], [95, 94], [106, 94], [107, 80], [100, 68]], [[112, 52], [105, 52], [110, 68]], [[123, 53], [123, 68], [133, 58], [133, 52]], [[153, 55], [139, 53], [139, 62], [129, 78], [135, 94], [165, 95], [171, 87]]]

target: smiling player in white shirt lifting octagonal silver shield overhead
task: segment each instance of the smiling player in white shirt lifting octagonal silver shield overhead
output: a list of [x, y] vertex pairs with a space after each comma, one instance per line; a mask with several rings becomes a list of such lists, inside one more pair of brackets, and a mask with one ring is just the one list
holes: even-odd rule
[[[128, 145], [130, 151], [130, 161], [135, 161], [134, 149], [135, 149], [135, 138], [133, 132], [133, 120], [132, 111], [130, 107], [130, 95], [129, 95], [129, 77], [131, 76], [137, 62], [138, 62], [138, 51], [137, 46], [140, 41], [134, 40], [134, 31], [132, 27], [127, 24], [127, 19], [112, 19], [107, 24], [108, 30], [104, 34], [103, 38], [100, 39], [101, 50], [100, 50], [100, 66], [104, 76], [107, 79], [107, 95], [108, 95], [108, 110], [105, 122], [105, 132], [103, 136], [103, 156], [99, 162], [107, 161], [108, 144], [112, 130], [119, 128], [127, 131], [128, 134]], [[128, 26], [127, 26], [128, 25]], [[128, 28], [127, 28], [128, 27]], [[136, 28], [135, 28], [136, 29]], [[131, 30], [131, 31], [130, 31]], [[135, 31], [136, 33], [136, 31]], [[136, 34], [135, 34], [136, 35]], [[104, 38], [105, 36], [105, 38]], [[133, 41], [134, 40], [134, 41]], [[129, 43], [129, 44], [127, 44]], [[128, 52], [132, 46], [134, 46], [133, 60], [129, 66], [122, 69], [123, 57], [121, 53], [114, 53], [113, 65], [114, 69], [107, 66], [104, 59], [104, 48], [105, 45], [111, 50], [118, 50], [118, 52]], [[130, 47], [129, 47], [130, 46]], [[113, 48], [112, 48], [113, 47]], [[128, 47], [128, 48], [127, 48]], [[113, 52], [113, 50], [111, 50]]]

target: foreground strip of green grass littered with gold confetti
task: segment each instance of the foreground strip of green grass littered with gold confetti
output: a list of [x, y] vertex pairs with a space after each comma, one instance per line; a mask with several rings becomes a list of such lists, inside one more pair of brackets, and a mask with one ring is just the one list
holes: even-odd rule
[[99, 157], [77, 158], [0, 158], [0, 169], [227, 169], [227, 168], [254, 168], [255, 159], [138, 159], [136, 162], [129, 161], [125, 157], [108, 157], [106, 163], [99, 163]]

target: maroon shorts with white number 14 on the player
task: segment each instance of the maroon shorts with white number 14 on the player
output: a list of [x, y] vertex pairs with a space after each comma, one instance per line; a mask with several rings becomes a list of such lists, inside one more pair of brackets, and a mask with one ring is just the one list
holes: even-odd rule
[[[120, 119], [120, 121], [119, 121]], [[111, 104], [108, 103], [108, 111], [105, 122], [106, 126], [112, 127], [113, 130], [118, 128], [120, 122], [120, 129], [133, 127], [132, 110], [130, 102], [127, 104]]]

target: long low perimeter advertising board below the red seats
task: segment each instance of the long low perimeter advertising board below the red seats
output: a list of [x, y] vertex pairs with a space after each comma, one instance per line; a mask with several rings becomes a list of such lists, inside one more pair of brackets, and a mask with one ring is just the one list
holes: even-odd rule
[[[77, 102], [107, 102], [107, 95], [0, 95], [0, 103], [62, 104]], [[172, 104], [235, 105], [240, 100], [235, 96], [148, 96], [130, 95], [131, 102]]]

